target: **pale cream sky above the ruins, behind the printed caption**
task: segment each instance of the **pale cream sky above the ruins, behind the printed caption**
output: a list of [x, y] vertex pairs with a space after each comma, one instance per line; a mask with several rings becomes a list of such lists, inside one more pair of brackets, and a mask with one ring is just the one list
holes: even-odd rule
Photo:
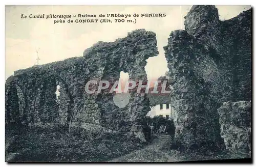
[[[250, 9], [250, 6], [216, 6], [221, 20], [230, 19]], [[167, 62], [163, 46], [167, 45], [170, 32], [184, 30], [184, 16], [191, 6], [6, 6], [5, 79], [19, 69], [80, 57], [85, 49], [98, 41], [114, 42], [136, 29], [156, 33], [159, 54], [147, 60], [148, 79], [164, 75]], [[21, 14], [141, 14], [166, 13], [166, 17], [138, 17], [134, 23], [53, 23], [53, 19], [25, 19]], [[97, 17], [96, 19], [98, 19]], [[88, 18], [82, 18], [88, 19]], [[115, 19], [115, 18], [113, 18]], [[63, 20], [63, 19], [62, 19]], [[67, 19], [66, 19], [67, 22]], [[126, 80], [128, 74], [120, 77]]]

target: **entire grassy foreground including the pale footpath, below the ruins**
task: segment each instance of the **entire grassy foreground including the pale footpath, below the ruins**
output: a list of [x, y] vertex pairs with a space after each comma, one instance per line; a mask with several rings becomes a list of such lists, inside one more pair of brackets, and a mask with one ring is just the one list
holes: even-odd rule
[[[13, 135], [6, 133], [6, 138], [12, 139]], [[170, 162], [250, 158], [226, 150], [180, 152], [170, 147], [172, 144], [168, 135], [158, 136], [150, 145], [121, 140], [113, 134], [104, 134], [89, 141], [56, 129], [19, 131], [14, 138], [7, 142], [10, 145], [6, 155], [17, 153], [10, 161], [19, 162]]]

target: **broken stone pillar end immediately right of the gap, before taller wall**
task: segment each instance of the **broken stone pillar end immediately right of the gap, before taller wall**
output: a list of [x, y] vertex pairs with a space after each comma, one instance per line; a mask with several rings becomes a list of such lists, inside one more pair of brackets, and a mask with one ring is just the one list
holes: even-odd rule
[[171, 105], [175, 110], [176, 140], [185, 148], [220, 140], [217, 106], [220, 73], [206, 46], [186, 31], [170, 34], [165, 47], [170, 78], [174, 80]]

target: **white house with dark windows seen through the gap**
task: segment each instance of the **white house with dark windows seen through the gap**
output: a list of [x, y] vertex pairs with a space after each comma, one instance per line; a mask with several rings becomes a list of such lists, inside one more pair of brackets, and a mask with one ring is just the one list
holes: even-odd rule
[[174, 108], [170, 104], [157, 104], [151, 107], [150, 112], [146, 116], [154, 117], [162, 115], [164, 118], [174, 118]]

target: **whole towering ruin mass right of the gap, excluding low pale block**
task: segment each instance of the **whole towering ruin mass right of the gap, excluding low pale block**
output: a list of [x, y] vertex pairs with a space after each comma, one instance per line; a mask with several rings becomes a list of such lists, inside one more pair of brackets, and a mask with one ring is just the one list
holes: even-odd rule
[[164, 47], [174, 80], [170, 96], [177, 143], [185, 148], [220, 148], [225, 141], [220, 130], [223, 134], [228, 123], [219, 124], [217, 108], [229, 100], [251, 99], [250, 16], [248, 10], [221, 21], [215, 6], [193, 6], [185, 31], [170, 34]]

